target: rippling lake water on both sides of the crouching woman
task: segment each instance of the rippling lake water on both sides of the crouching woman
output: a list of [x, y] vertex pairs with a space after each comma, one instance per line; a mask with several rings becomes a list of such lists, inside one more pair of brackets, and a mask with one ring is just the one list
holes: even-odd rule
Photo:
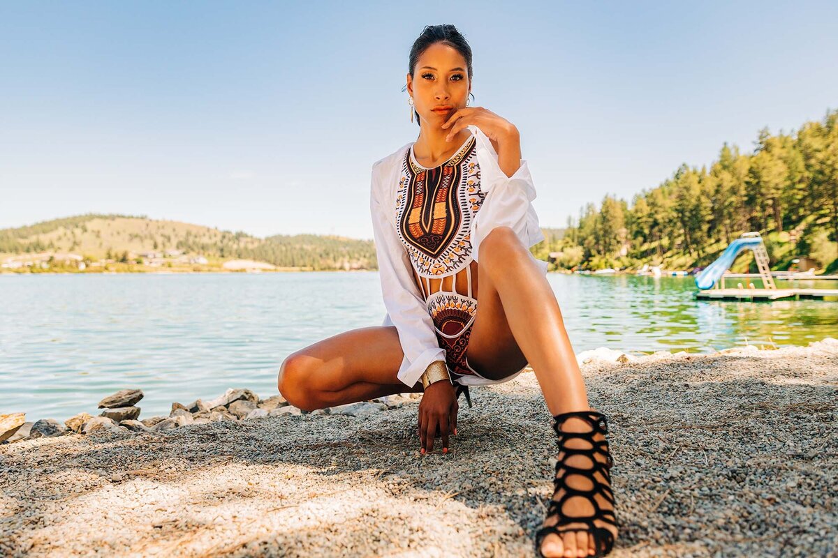
[[[547, 278], [577, 353], [838, 337], [835, 299], [699, 301], [692, 277]], [[795, 284], [838, 289], [836, 281]], [[376, 272], [0, 275], [0, 414], [98, 414], [101, 397], [127, 387], [145, 393], [141, 417], [228, 387], [268, 397], [292, 351], [380, 325], [384, 315]]]

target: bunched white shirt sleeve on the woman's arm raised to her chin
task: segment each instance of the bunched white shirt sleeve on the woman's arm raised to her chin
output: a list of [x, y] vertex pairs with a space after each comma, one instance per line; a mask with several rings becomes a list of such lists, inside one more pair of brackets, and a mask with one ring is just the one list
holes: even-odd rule
[[[479, 261], [480, 244], [495, 227], [509, 227], [525, 247], [535, 246], [544, 240], [544, 233], [541, 232], [535, 207], [532, 207], [535, 186], [527, 161], [521, 159], [520, 168], [507, 177], [500, 169], [498, 155], [489, 138], [477, 126], [468, 127], [477, 136], [480, 190], [486, 192], [483, 204], [471, 223], [472, 258]], [[535, 262], [546, 273], [547, 262], [541, 259], [535, 259]]]

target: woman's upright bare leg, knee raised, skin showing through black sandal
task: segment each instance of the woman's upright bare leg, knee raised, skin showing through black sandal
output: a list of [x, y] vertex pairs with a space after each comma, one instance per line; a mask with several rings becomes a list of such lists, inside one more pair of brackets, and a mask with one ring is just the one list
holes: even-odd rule
[[[530, 251], [511, 228], [495, 228], [480, 247], [478, 262], [478, 312], [468, 341], [469, 364], [487, 377], [508, 376], [530, 362], [552, 415], [587, 411], [585, 382], [579, 371], [556, 294], [538, 268]], [[567, 429], [586, 432], [582, 419], [566, 422]], [[578, 441], [569, 440], [568, 447]], [[580, 448], [587, 447], [582, 442]], [[579, 461], [579, 458], [582, 461]], [[572, 455], [566, 463], [587, 468], [587, 458]], [[574, 501], [576, 500], [576, 501]], [[600, 500], [602, 509], [611, 505]], [[587, 499], [572, 497], [566, 509], [573, 515], [589, 515], [594, 509]], [[551, 516], [544, 525], [555, 525]], [[607, 526], [612, 530], [610, 525]], [[541, 545], [546, 556], [587, 556], [594, 541], [582, 523], [570, 524], [576, 532], [547, 535]], [[614, 533], [616, 535], [616, 533]]]

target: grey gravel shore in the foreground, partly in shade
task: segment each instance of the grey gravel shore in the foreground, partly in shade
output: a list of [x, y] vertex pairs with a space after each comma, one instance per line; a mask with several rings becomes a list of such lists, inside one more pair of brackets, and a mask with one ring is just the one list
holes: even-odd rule
[[[838, 340], [593, 352], [612, 556], [838, 556]], [[532, 556], [550, 413], [531, 372], [471, 393], [444, 455], [419, 453], [417, 399], [3, 444], [0, 556]]]

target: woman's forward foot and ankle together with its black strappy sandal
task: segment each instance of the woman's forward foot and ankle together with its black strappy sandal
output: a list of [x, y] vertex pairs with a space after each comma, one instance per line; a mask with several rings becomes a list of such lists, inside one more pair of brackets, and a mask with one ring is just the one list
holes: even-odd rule
[[[543, 536], [540, 550], [547, 558], [603, 556], [613, 547], [618, 532], [608, 472], [611, 459], [604, 435], [608, 432], [606, 418], [593, 411], [565, 415], [558, 415], [561, 424], [554, 422], [554, 429], [558, 426], [561, 430], [556, 489], [544, 525], [536, 534], [536, 542], [539, 535]], [[581, 490], [583, 494], [575, 490]], [[567, 532], [558, 535], [545, 529], [557, 524], [561, 525], [556, 529]]]

